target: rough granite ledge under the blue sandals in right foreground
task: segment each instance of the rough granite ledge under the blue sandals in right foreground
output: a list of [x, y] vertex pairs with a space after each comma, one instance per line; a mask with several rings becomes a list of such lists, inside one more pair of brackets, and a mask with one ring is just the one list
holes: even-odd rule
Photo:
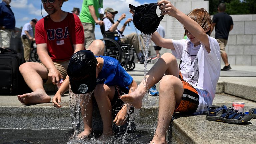
[[[213, 105], [232, 107], [232, 103], [225, 101], [246, 102], [244, 112], [256, 108], [256, 103], [239, 97], [216, 94]], [[256, 142], [256, 119], [244, 124], [228, 124], [206, 120], [205, 115], [179, 116], [173, 120], [172, 144], [253, 144]]]

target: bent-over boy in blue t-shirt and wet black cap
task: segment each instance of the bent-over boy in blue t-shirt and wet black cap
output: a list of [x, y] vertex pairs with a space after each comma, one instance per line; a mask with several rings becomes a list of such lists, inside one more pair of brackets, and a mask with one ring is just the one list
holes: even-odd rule
[[[69, 89], [71, 93], [85, 94], [83, 98], [88, 101], [93, 93], [103, 122], [103, 133], [100, 139], [113, 136], [112, 112], [117, 126], [126, 123], [128, 106], [120, 100], [120, 95], [130, 93], [137, 88], [137, 83], [123, 69], [119, 61], [109, 56], [94, 56], [89, 50], [81, 50], [73, 54], [68, 65], [68, 77], [56, 95], [52, 98], [54, 107], [61, 107], [61, 95]], [[83, 100], [82, 100], [83, 101]], [[87, 105], [80, 105], [84, 121], [84, 131], [78, 134], [85, 138], [92, 133], [92, 100]], [[116, 113], [116, 111], [118, 113]]]

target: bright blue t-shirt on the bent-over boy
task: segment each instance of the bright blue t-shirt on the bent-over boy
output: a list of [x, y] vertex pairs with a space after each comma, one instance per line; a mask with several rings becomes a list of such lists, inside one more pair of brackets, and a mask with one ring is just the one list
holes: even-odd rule
[[119, 86], [129, 89], [128, 86], [132, 83], [132, 77], [123, 69], [119, 61], [109, 56], [101, 57], [104, 60], [103, 67], [99, 73], [96, 83], [106, 84], [108, 86]]

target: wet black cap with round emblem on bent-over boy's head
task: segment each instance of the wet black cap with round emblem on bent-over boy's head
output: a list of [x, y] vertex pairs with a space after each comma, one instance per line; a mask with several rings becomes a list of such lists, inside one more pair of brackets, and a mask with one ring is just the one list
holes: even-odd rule
[[90, 50], [80, 50], [72, 55], [67, 73], [73, 93], [86, 94], [95, 89], [97, 63]]

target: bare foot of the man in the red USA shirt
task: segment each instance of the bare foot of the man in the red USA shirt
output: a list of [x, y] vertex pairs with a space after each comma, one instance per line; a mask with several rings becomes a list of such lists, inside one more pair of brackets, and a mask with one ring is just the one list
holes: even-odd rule
[[44, 90], [37, 89], [32, 93], [18, 95], [18, 100], [24, 104], [48, 103], [51, 101], [51, 97]]

